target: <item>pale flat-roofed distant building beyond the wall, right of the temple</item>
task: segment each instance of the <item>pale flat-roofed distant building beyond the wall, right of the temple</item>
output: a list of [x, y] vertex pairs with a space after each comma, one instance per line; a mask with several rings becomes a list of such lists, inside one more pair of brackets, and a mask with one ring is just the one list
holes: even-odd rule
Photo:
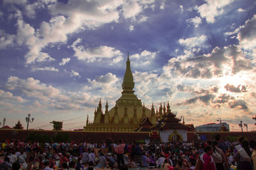
[[230, 131], [229, 124], [227, 124], [226, 122], [221, 122], [220, 124], [211, 123], [211, 124], [198, 125], [196, 126], [196, 131], [197, 132], [216, 132], [216, 131], [220, 131], [220, 128], [222, 125], [227, 127], [228, 131]]

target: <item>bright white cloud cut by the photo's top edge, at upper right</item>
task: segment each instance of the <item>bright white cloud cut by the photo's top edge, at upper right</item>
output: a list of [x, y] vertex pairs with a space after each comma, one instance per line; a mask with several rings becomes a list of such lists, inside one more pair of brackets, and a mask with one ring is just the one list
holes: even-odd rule
[[224, 7], [231, 4], [234, 0], [205, 0], [206, 3], [201, 6], [196, 6], [202, 18], [205, 18], [207, 22], [213, 23], [215, 17], [224, 13]]

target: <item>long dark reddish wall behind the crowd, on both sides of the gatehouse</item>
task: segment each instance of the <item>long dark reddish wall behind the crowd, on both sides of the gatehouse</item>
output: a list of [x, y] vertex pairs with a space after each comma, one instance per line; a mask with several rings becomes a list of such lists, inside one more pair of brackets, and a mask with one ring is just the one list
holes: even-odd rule
[[[68, 133], [70, 140], [74, 141], [90, 141], [90, 142], [102, 142], [106, 139], [111, 138], [113, 142], [118, 139], [124, 139], [127, 143], [132, 141], [143, 140], [149, 138], [148, 132], [83, 132], [83, 131], [32, 131], [29, 133], [36, 132], [48, 136], [54, 136], [56, 133]], [[244, 136], [248, 140], [253, 139], [256, 141], [256, 132], [187, 132], [188, 141], [193, 141], [199, 137], [203, 137], [206, 140], [211, 140], [216, 134], [220, 134], [223, 139], [227, 136]], [[6, 139], [26, 139], [26, 130], [15, 130], [15, 129], [0, 129], [0, 140]]]

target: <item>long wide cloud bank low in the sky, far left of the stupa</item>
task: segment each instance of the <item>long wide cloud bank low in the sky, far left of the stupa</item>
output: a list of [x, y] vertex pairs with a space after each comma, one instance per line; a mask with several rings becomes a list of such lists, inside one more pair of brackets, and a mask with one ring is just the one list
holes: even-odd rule
[[[11, 76], [8, 78], [6, 87], [9, 90], [14, 90], [22, 94], [22, 96], [35, 98], [35, 102], [31, 107], [44, 108], [44, 110], [84, 110], [85, 106], [91, 106], [94, 104], [94, 98], [90, 97], [86, 92], [65, 92], [60, 89], [41, 83], [34, 78], [28, 78], [26, 80]], [[88, 87], [90, 89], [90, 87]], [[18, 96], [12, 96], [10, 92], [4, 92], [0, 90], [1, 101], [19, 101], [25, 102]], [[37, 100], [40, 99], [40, 102]], [[33, 100], [31, 100], [33, 101]], [[1, 104], [1, 103], [0, 103]]]

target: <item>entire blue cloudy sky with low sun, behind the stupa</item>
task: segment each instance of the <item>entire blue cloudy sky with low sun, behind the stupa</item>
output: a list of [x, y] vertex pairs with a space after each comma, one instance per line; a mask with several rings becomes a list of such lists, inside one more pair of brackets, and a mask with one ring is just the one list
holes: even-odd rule
[[255, 127], [254, 0], [1, 0], [0, 120], [82, 128], [122, 92], [127, 52], [136, 95], [170, 102], [194, 125]]

